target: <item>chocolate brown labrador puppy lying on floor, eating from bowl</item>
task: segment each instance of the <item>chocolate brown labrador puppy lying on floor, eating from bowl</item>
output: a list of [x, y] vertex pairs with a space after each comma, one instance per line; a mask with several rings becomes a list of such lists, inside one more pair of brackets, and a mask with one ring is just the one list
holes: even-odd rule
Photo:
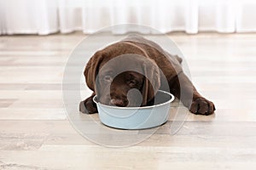
[[154, 95], [162, 89], [181, 99], [192, 113], [212, 114], [213, 103], [197, 92], [181, 62], [177, 55], [137, 35], [115, 42], [97, 51], [86, 65], [84, 77], [94, 93], [80, 103], [79, 111], [96, 113], [95, 95], [104, 105], [154, 105]]

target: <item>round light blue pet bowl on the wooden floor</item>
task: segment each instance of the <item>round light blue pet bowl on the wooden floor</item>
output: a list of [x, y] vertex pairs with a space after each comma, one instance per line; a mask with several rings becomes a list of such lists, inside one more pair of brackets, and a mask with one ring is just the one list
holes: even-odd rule
[[159, 90], [154, 98], [154, 104], [143, 107], [118, 107], [102, 105], [96, 99], [100, 120], [108, 127], [120, 129], [143, 129], [158, 127], [168, 120], [169, 110], [174, 96]]

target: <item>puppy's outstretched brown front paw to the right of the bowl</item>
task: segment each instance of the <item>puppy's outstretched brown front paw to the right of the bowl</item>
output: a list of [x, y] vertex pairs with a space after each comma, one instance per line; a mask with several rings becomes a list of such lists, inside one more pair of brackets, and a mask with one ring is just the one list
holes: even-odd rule
[[197, 98], [192, 101], [189, 111], [194, 114], [211, 115], [215, 111], [215, 106], [212, 101], [204, 98]]

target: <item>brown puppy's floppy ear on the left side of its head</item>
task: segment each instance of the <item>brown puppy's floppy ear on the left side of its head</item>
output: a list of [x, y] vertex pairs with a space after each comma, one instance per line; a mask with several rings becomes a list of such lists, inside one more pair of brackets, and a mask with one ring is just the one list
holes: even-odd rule
[[88, 61], [85, 69], [84, 69], [84, 77], [86, 84], [88, 88], [90, 88], [92, 91], [96, 91], [95, 85], [96, 85], [96, 76], [99, 71], [99, 67], [103, 60], [103, 53], [102, 51], [97, 51], [96, 54], [94, 54], [90, 60]]

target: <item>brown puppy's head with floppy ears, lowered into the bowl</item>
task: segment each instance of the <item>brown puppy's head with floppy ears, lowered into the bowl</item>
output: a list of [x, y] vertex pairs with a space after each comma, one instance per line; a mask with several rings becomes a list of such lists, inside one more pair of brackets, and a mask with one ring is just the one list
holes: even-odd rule
[[160, 71], [152, 59], [137, 54], [96, 53], [85, 67], [88, 87], [105, 105], [143, 106], [160, 88]]

